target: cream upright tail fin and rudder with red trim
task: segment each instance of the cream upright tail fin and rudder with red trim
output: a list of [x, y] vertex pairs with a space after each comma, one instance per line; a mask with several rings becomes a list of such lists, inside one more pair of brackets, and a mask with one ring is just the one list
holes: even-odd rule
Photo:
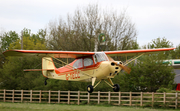
[[42, 74], [46, 78], [53, 78], [55, 74], [55, 65], [51, 57], [42, 58]]

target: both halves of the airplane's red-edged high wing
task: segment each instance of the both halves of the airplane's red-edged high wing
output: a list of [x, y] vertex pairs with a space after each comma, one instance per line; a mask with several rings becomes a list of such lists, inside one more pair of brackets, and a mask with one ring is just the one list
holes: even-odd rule
[[[159, 51], [169, 51], [175, 48], [161, 48], [161, 49], [141, 49], [141, 50], [123, 50], [123, 51], [105, 51], [109, 56], [133, 56], [142, 53], [150, 54]], [[8, 50], [3, 54], [5, 56], [41, 56], [54, 58], [79, 58], [93, 55], [95, 52], [81, 52], [81, 51], [49, 51], [49, 50]]]

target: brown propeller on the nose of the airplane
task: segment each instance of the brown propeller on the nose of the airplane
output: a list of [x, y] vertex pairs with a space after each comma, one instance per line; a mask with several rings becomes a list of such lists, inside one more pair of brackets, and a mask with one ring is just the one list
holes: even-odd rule
[[112, 63], [114, 63], [116, 66], [121, 67], [124, 71], [126, 71], [128, 74], [130, 74], [131, 69], [127, 66], [124, 66], [122, 63], [120, 62], [115, 62], [113, 58], [111, 58], [110, 56], [107, 56], [109, 61], [112, 61]]

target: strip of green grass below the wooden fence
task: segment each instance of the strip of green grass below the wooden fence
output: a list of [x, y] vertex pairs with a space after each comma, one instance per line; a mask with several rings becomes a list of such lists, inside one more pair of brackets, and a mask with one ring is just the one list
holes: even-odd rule
[[0, 111], [174, 111], [174, 109], [0, 102]]

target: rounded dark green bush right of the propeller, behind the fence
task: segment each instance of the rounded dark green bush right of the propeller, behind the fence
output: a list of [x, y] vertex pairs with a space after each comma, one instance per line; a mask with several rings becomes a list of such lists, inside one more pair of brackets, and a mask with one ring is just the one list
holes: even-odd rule
[[132, 63], [131, 73], [120, 75], [122, 91], [155, 92], [161, 87], [173, 88], [175, 73], [172, 67], [163, 64], [163, 58], [162, 54], [152, 54], [137, 64]]

